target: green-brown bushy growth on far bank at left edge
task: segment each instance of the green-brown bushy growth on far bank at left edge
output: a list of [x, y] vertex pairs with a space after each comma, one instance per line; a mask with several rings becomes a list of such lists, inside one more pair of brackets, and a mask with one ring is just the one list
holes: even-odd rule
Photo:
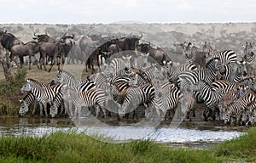
[[17, 115], [19, 110], [20, 88], [26, 78], [26, 69], [18, 68], [11, 80], [0, 81], [0, 115]]

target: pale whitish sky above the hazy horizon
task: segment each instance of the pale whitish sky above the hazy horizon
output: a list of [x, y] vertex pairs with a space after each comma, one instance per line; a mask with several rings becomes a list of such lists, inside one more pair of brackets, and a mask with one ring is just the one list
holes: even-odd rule
[[255, 0], [0, 0], [0, 24], [256, 22]]

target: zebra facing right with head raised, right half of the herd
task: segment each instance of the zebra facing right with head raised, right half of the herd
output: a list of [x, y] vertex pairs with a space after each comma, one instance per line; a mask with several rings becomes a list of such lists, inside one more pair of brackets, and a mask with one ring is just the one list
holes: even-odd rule
[[217, 71], [224, 70], [224, 65], [219, 62], [219, 59], [211, 59], [207, 62], [207, 68], [195, 71], [183, 71], [177, 76], [177, 83], [180, 83], [180, 78], [186, 79], [189, 84], [195, 84], [199, 81], [213, 82], [217, 75]]

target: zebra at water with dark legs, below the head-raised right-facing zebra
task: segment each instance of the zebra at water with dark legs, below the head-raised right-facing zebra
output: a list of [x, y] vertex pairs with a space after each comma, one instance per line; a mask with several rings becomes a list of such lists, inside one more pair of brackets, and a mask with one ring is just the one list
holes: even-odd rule
[[218, 112], [219, 99], [222, 97], [224, 90], [219, 89], [217, 91], [212, 91], [211, 85], [204, 81], [196, 82], [193, 88], [193, 91], [200, 93], [200, 96], [203, 99], [204, 104], [206, 104], [207, 106], [207, 108], [204, 111], [205, 121], [207, 121], [211, 113], [212, 119], [213, 121], [215, 121], [216, 113]]

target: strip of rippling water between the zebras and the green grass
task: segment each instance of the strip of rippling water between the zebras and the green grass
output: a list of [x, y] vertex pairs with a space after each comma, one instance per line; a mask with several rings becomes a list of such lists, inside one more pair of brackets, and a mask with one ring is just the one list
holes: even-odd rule
[[[150, 139], [166, 143], [171, 147], [205, 149], [214, 143], [239, 137], [246, 126], [221, 126], [218, 122], [183, 122], [178, 125], [160, 124], [150, 126], [118, 122], [114, 125], [99, 123], [95, 119], [80, 122], [68, 118], [0, 118], [0, 135], [43, 136], [57, 130], [75, 129], [88, 135], [99, 134], [111, 138], [111, 142], [129, 142], [137, 139]], [[103, 124], [103, 125], [102, 125]]]

